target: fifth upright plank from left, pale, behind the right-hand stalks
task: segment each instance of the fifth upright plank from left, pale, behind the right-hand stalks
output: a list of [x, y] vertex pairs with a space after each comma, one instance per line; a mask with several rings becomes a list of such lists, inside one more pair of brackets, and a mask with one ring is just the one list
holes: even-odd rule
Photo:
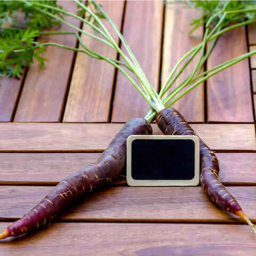
[[[198, 28], [193, 36], [188, 35], [192, 28], [190, 23], [198, 18], [199, 14], [200, 13], [195, 9], [184, 8], [183, 4], [166, 5], [162, 86], [175, 63], [177, 63], [185, 53], [202, 42], [203, 27]], [[171, 90], [177, 87], [193, 72], [199, 59], [199, 53], [197, 55], [198, 56], [195, 57], [183, 71], [177, 82], [174, 83]], [[203, 84], [197, 86], [192, 92], [180, 99], [173, 106], [182, 112], [182, 115], [188, 122], [204, 122]]]

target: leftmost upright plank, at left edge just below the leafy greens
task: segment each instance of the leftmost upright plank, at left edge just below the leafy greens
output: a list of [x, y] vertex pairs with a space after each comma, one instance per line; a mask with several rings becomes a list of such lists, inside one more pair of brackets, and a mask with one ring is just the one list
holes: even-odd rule
[[0, 77], [0, 122], [10, 122], [18, 99], [21, 80]]

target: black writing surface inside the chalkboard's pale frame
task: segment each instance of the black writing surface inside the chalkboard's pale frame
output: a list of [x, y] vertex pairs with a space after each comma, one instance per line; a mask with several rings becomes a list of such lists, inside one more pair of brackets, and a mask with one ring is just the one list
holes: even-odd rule
[[187, 140], [132, 141], [134, 180], [191, 180], [195, 176], [195, 143]]

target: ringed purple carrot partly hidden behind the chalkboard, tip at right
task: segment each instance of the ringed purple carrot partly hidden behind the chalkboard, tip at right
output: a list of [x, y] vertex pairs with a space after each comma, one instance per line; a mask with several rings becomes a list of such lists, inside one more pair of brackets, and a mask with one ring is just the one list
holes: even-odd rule
[[[185, 121], [183, 116], [174, 108], [165, 108], [156, 116], [158, 127], [165, 134], [171, 135], [196, 135], [191, 126]], [[219, 162], [214, 152], [200, 139], [200, 159], [201, 159], [201, 185], [211, 201], [222, 209], [234, 213], [245, 220], [253, 229], [254, 224], [246, 217], [242, 207], [238, 204], [219, 178]]]

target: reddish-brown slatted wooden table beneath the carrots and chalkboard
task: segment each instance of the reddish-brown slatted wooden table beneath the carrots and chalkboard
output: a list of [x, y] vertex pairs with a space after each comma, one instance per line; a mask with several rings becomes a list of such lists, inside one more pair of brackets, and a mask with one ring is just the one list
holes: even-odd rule
[[[62, 4], [75, 10], [69, 1]], [[181, 5], [102, 5], [157, 89], [159, 74], [165, 80], [175, 61], [202, 40], [202, 29], [188, 37], [189, 23], [198, 14]], [[39, 40], [77, 45], [73, 36]], [[117, 57], [86, 36], [83, 41]], [[253, 44], [255, 27], [231, 31], [219, 39], [207, 67], [243, 54], [255, 48]], [[21, 80], [0, 80], [0, 229], [30, 210], [66, 175], [95, 161], [124, 122], [148, 110], [108, 63], [54, 46], [47, 47], [44, 56], [49, 58], [46, 69], [34, 63]], [[256, 221], [254, 68], [256, 59], [244, 60], [197, 87], [175, 107], [217, 151], [223, 183]], [[217, 209], [201, 187], [128, 187], [121, 179], [70, 207], [50, 227], [1, 241], [0, 254], [248, 256], [255, 255], [255, 241], [250, 227]]]

